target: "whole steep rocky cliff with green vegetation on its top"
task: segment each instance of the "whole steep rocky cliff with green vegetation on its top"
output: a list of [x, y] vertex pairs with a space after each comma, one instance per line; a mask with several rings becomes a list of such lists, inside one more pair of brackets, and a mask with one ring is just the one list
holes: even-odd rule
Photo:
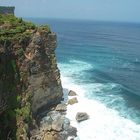
[[29, 139], [36, 118], [62, 100], [56, 34], [0, 15], [0, 139]]

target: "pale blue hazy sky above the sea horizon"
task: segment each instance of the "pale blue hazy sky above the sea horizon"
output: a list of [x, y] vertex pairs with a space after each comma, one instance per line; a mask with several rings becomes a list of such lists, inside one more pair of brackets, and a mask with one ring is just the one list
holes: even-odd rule
[[20, 17], [140, 22], [140, 0], [0, 0]]

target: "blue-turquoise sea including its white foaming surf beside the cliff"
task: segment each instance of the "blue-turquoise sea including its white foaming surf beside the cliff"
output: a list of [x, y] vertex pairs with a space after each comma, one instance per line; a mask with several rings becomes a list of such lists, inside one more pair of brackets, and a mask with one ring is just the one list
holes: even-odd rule
[[[140, 140], [140, 24], [30, 19], [57, 33], [64, 88], [78, 94], [68, 117], [80, 140]], [[77, 124], [75, 113], [88, 121]]]

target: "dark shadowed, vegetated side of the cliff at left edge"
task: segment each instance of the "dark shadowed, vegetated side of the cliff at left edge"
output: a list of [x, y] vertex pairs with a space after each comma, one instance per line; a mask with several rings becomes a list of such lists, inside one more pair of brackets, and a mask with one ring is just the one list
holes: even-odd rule
[[0, 139], [15, 140], [19, 77], [14, 56], [10, 50], [4, 49], [4, 52], [0, 52]]

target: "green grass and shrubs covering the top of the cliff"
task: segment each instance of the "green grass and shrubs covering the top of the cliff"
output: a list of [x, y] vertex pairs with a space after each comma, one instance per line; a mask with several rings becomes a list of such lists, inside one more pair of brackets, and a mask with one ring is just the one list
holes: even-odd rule
[[38, 29], [50, 32], [50, 28], [47, 25], [37, 27], [35, 24], [23, 21], [22, 18], [17, 18], [14, 15], [0, 14], [0, 41], [19, 40], [30, 36], [34, 30]]

